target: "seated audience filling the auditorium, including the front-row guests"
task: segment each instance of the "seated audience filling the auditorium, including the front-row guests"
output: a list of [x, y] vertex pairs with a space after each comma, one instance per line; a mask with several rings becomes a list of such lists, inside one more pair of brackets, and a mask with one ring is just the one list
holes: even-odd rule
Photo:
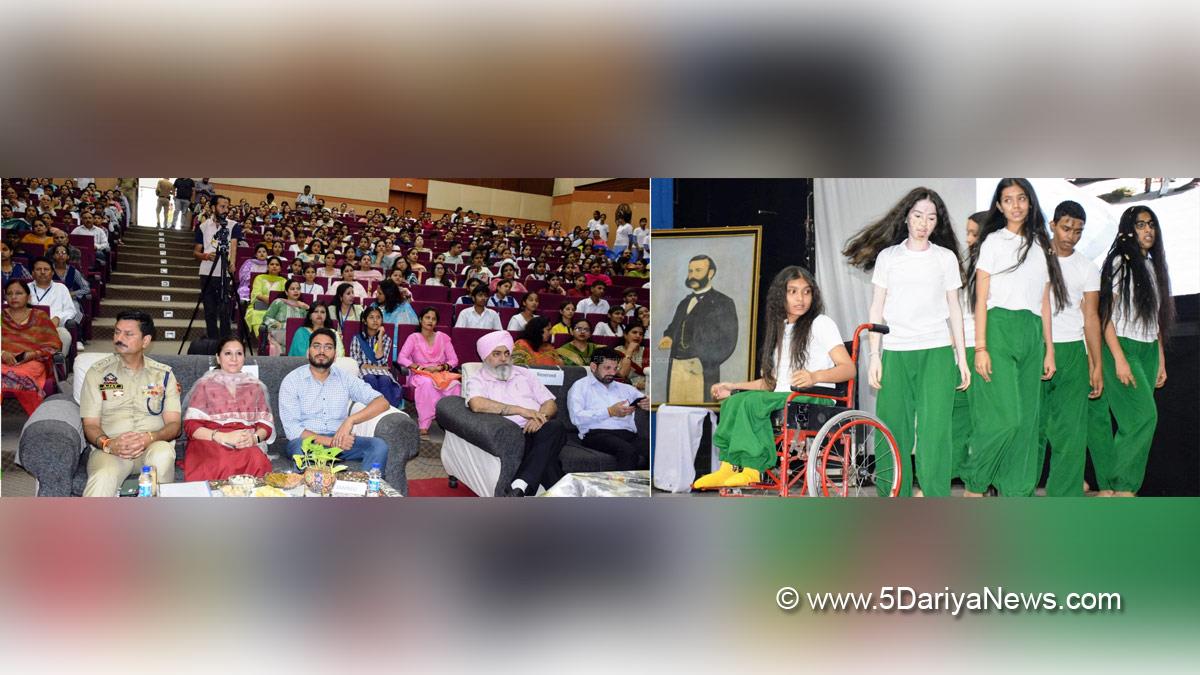
[[[252, 207], [246, 201], [230, 205], [220, 195], [198, 202], [192, 227], [204, 232], [227, 207], [236, 223], [230, 273], [239, 299], [228, 318], [241, 336], [222, 335], [215, 342], [216, 368], [185, 394], [170, 368], [144, 356], [155, 336], [151, 317], [142, 311], [118, 315], [115, 353], [86, 372], [79, 401], [91, 444], [85, 495], [112, 496], [142, 466], [170, 482], [170, 441], [180, 432], [188, 438], [187, 480], [266, 473], [265, 448], [280, 426], [289, 452], [312, 437], [342, 448], [343, 459], [359, 459], [366, 470], [386, 462], [388, 447], [378, 438], [355, 437], [355, 424], [412, 401], [425, 436], [437, 402], [450, 395], [524, 429], [528, 466], [522, 464], [509, 492], [532, 494], [560, 477], [557, 456], [565, 431], [554, 423], [553, 396], [523, 368], [529, 365], [590, 369], [569, 394], [581, 442], [613, 455], [623, 470], [646, 467], [648, 444], [632, 417], [635, 407], [648, 408], [644, 237], [629, 231], [628, 240], [610, 250], [599, 231], [576, 227], [568, 234], [558, 222], [542, 231], [461, 209], [437, 220], [428, 213], [401, 215], [395, 208], [360, 216], [346, 204], [325, 208], [319, 198], [298, 199], [293, 209], [287, 202], [275, 204], [271, 196]], [[95, 210], [82, 210], [79, 217], [94, 228], [108, 222]], [[198, 257], [202, 251], [198, 234]], [[16, 276], [11, 258], [6, 252], [6, 390], [10, 381], [26, 389], [44, 386], [48, 350], [55, 339], [70, 340], [60, 334], [74, 318], [54, 304], [76, 301], [83, 289], [48, 281], [66, 295], [42, 291], [48, 287], [43, 280], [60, 271], [65, 280], [70, 276], [65, 246], [30, 263], [25, 274], [31, 283]], [[30, 309], [43, 299], [50, 304], [50, 294], [48, 316]], [[246, 354], [254, 351], [307, 358], [277, 392], [280, 424], [271, 414], [271, 393], [242, 371]], [[330, 368], [342, 356], [358, 364], [359, 377]], [[463, 362], [482, 362], [466, 390], [458, 372]], [[350, 401], [366, 407], [347, 416]]]

